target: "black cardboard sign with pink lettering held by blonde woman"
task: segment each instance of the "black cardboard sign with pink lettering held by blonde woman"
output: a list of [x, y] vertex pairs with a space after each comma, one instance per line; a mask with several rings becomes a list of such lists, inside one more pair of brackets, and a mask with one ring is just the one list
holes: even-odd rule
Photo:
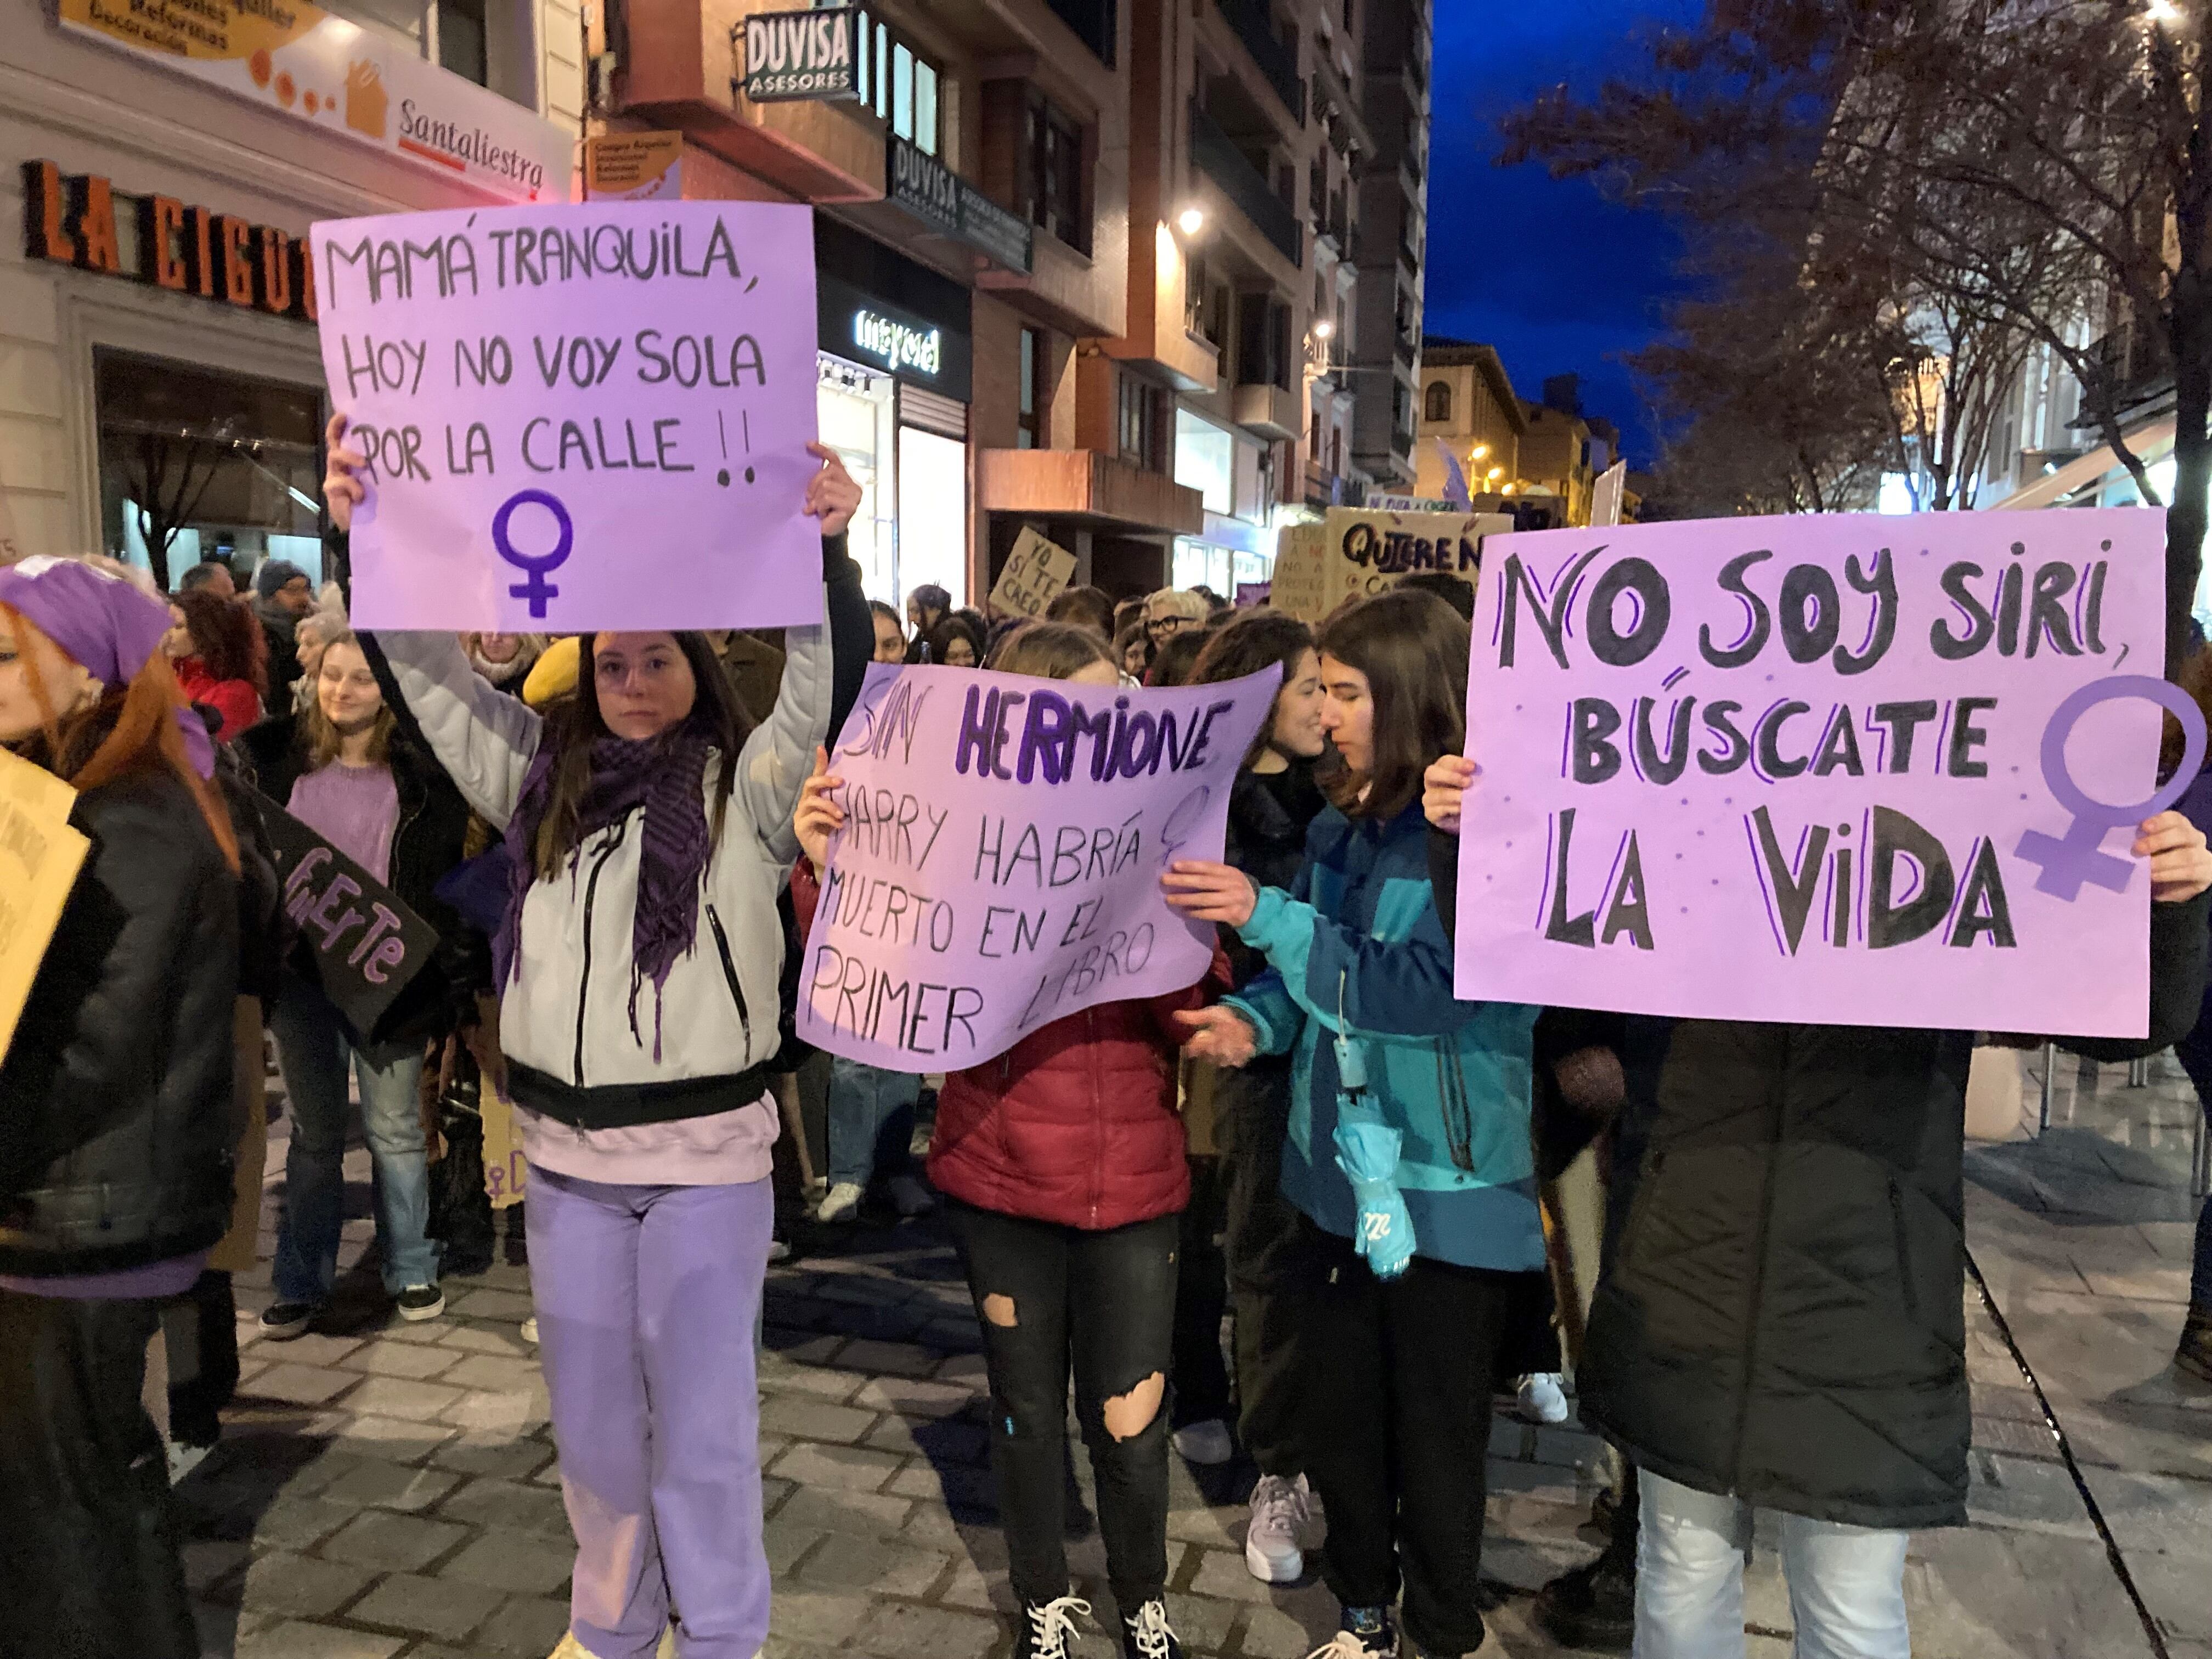
[[299, 929], [292, 967], [323, 987], [358, 1042], [405, 1013], [400, 993], [438, 953], [438, 933], [389, 887], [268, 796], [257, 796], [276, 852], [283, 907]]

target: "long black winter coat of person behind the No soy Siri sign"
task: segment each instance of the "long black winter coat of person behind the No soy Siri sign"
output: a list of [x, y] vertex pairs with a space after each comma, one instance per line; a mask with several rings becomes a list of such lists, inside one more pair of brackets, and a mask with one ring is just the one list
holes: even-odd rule
[[[1453, 925], [1458, 843], [1429, 872]], [[2150, 1035], [2205, 989], [2212, 894], [2150, 907]], [[1966, 1522], [1962, 1148], [1973, 1035], [1628, 1015], [1632, 1168], [1577, 1374], [1639, 1469], [1851, 1526]]]

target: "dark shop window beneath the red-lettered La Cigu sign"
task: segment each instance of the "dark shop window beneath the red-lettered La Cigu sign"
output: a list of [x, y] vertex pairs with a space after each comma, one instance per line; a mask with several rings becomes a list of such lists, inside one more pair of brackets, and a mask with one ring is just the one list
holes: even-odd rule
[[323, 389], [95, 352], [104, 549], [175, 586], [197, 560], [321, 571]]

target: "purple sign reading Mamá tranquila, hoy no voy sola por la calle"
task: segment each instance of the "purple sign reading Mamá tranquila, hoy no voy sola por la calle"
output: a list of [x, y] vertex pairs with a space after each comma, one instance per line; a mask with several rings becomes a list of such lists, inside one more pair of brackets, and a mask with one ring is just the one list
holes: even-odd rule
[[586, 201], [312, 230], [369, 458], [365, 628], [818, 622], [810, 208]]

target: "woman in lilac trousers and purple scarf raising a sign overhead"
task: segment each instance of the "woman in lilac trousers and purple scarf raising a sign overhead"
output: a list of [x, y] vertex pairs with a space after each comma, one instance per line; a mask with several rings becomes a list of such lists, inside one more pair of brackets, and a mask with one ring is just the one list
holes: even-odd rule
[[[363, 500], [332, 420], [330, 515]], [[774, 1221], [792, 810], [874, 650], [843, 531], [860, 489], [832, 449], [825, 624], [790, 628], [783, 690], [748, 719], [703, 635], [588, 635], [575, 697], [540, 717], [453, 635], [372, 641], [396, 710], [507, 841], [493, 940], [507, 1093], [529, 1159], [531, 1287], [577, 1540], [560, 1659], [646, 1659], [677, 1608], [684, 1659], [768, 1639], [754, 1321]]]

